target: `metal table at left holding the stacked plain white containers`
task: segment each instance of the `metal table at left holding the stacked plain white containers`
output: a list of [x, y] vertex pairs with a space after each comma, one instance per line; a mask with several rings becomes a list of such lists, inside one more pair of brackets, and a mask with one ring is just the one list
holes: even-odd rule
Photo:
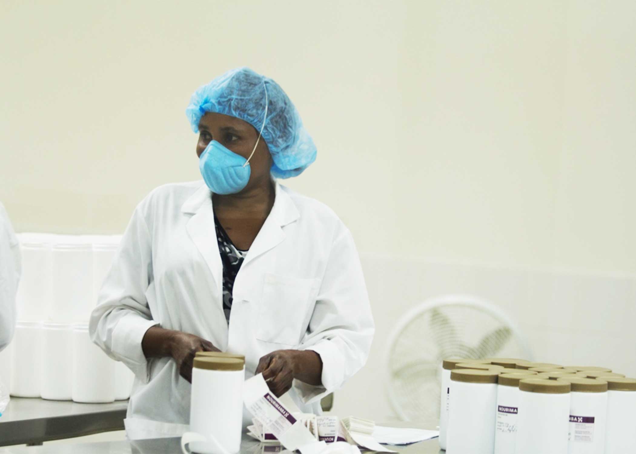
[[128, 401], [78, 404], [11, 397], [0, 416], [0, 446], [42, 443], [123, 430]]

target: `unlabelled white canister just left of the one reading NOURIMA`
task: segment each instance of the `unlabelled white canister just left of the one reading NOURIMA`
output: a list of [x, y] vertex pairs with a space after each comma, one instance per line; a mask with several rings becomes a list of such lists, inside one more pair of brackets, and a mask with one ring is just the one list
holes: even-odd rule
[[446, 432], [448, 454], [492, 454], [495, 446], [497, 371], [453, 369]]

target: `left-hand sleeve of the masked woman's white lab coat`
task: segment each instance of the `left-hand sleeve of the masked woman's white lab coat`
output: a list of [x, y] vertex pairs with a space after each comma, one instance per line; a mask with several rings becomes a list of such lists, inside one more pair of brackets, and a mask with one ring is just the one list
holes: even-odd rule
[[151, 236], [140, 207], [135, 210], [90, 316], [90, 337], [109, 357], [130, 368], [142, 383], [150, 378], [141, 341], [153, 320], [146, 290], [153, 280]]

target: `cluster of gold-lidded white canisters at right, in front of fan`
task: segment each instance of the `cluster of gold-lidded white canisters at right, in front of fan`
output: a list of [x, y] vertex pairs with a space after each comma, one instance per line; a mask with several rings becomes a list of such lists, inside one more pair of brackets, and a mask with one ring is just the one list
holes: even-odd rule
[[449, 454], [636, 453], [636, 380], [608, 368], [445, 359], [441, 382]]

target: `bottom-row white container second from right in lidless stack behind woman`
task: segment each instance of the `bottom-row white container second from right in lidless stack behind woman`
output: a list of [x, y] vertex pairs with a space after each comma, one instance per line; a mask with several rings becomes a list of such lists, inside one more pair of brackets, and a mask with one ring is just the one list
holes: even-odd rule
[[73, 327], [74, 402], [106, 403], [115, 400], [114, 361], [93, 344], [88, 327]]

